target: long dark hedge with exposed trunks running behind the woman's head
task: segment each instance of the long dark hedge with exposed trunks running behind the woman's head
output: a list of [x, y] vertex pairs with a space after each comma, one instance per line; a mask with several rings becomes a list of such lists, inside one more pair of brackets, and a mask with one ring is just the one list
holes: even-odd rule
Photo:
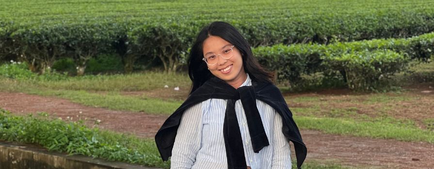
[[[359, 6], [336, 12], [322, 8], [311, 11], [312, 14], [303, 10], [300, 13], [288, 11], [290, 4], [284, 2], [272, 3], [287, 5], [288, 8], [279, 8], [278, 12], [271, 10], [271, 14], [267, 14], [266, 11], [269, 10], [263, 9], [264, 11], [258, 10], [244, 16], [231, 11], [231, 7], [224, 9], [230, 13], [219, 13], [215, 18], [202, 18], [208, 13], [195, 14], [197, 11], [194, 10], [189, 10], [192, 14], [187, 15], [157, 17], [159, 12], [164, 13], [162, 9], [149, 17], [141, 17], [142, 19], [113, 19], [102, 13], [100, 17], [91, 18], [82, 18], [77, 14], [71, 20], [51, 21], [41, 18], [41, 23], [34, 19], [17, 21], [17, 16], [10, 15], [0, 19], [0, 59], [5, 57], [7, 60], [25, 61], [30, 63], [33, 72], [43, 73], [52, 67], [55, 60], [68, 57], [74, 60], [77, 74], [82, 75], [91, 58], [116, 54], [122, 58], [126, 72], [133, 70], [138, 59], [148, 61], [144, 64], [158, 59], [164, 70], [176, 71], [185, 63], [188, 49], [199, 29], [215, 20], [223, 20], [239, 28], [252, 47], [279, 43], [329, 44], [374, 38], [406, 38], [434, 30], [433, 9], [407, 6], [407, 3], [400, 2], [396, 8], [367, 10], [359, 3], [352, 3]], [[9, 2], [11, 9], [16, 7], [14, 4], [16, 5]], [[188, 3], [179, 5], [186, 4]], [[326, 5], [325, 2], [320, 4]], [[126, 6], [128, 2], [123, 3], [121, 11]], [[110, 14], [112, 13], [107, 13]], [[89, 15], [92, 16], [92, 13]], [[245, 18], [238, 18], [239, 15]], [[285, 17], [280, 17], [281, 15]]]

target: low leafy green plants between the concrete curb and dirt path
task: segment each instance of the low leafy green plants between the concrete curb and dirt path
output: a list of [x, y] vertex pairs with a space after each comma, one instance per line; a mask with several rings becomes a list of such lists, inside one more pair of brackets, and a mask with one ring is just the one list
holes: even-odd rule
[[43, 117], [22, 117], [0, 110], [0, 140], [36, 143], [50, 151], [81, 154], [111, 161], [123, 161], [168, 168], [162, 162], [152, 140], [141, 140], [133, 136], [102, 132], [88, 128], [83, 121], [64, 122]]

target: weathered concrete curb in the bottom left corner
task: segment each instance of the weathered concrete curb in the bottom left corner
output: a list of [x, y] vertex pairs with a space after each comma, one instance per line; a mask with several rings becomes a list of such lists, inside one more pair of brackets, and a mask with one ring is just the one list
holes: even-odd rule
[[0, 169], [157, 169], [0, 141]]

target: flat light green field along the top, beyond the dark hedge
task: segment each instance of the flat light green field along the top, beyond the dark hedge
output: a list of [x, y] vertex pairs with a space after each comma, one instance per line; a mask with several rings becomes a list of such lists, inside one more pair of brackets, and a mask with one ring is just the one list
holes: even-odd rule
[[25, 22], [80, 19], [288, 19], [316, 14], [432, 11], [433, 0], [1, 0], [0, 17]]

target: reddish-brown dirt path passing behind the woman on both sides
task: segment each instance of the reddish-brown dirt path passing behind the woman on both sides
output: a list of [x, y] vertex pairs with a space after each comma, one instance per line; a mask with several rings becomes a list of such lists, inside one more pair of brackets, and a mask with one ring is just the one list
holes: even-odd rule
[[[101, 120], [100, 128], [141, 137], [153, 137], [167, 118], [167, 115], [112, 111], [83, 106], [66, 99], [23, 93], [0, 92], [0, 108], [15, 114], [47, 112], [63, 119]], [[88, 124], [92, 126], [92, 122]], [[434, 144], [339, 136], [312, 130], [301, 132], [309, 151], [307, 161], [336, 161], [367, 168], [434, 169]]]

